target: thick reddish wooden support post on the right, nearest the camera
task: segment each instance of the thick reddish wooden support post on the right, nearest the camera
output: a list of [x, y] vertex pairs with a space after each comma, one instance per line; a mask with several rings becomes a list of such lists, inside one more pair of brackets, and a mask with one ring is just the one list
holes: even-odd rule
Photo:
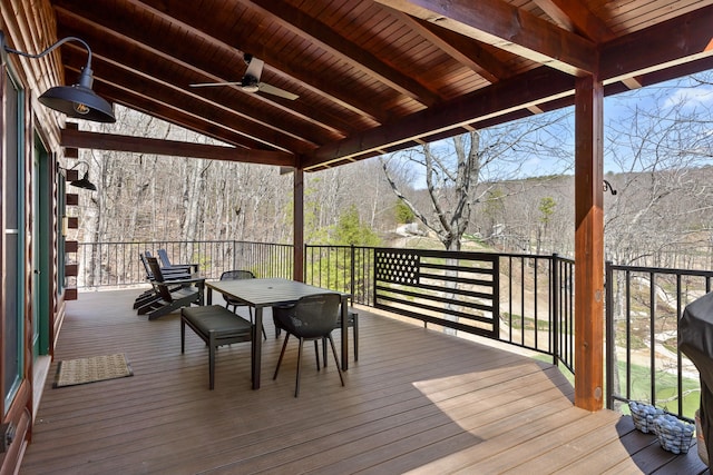
[[603, 407], [604, 394], [604, 88], [576, 80], [575, 91], [575, 405]]

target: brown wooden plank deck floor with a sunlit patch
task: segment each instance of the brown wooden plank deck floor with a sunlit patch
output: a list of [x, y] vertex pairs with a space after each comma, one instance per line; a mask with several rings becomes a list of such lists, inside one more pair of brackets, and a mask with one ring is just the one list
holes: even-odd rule
[[[695, 474], [695, 446], [664, 452], [631, 419], [575, 408], [543, 363], [360, 310], [360, 359], [341, 387], [311, 348], [293, 397], [296, 349], [251, 390], [250, 345], [218, 352], [193, 334], [180, 354], [177, 315], [131, 310], [136, 290], [84, 293], [68, 305], [22, 474]], [[245, 311], [245, 310], [241, 310]], [[339, 331], [335, 333], [339, 338]], [[57, 362], [123, 352], [134, 376], [52, 388]]]

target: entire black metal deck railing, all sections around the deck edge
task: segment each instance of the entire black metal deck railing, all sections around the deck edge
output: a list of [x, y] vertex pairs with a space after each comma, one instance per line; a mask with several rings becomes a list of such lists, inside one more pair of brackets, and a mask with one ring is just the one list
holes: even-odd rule
[[[138, 254], [160, 248], [175, 264], [198, 264], [208, 278], [237, 268], [258, 277], [291, 278], [294, 267], [291, 245], [84, 243], [78, 286], [143, 284], [146, 273]], [[394, 258], [400, 263], [389, 261]], [[349, 291], [356, 304], [549, 355], [574, 373], [574, 265], [557, 255], [307, 245], [304, 278]], [[700, 392], [697, 370], [677, 349], [677, 321], [688, 303], [711, 290], [712, 281], [713, 271], [607, 263], [607, 407], [646, 400], [692, 417]]]

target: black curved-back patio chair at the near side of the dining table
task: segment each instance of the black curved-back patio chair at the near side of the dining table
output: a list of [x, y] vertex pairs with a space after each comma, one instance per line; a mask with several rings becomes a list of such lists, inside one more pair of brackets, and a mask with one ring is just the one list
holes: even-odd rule
[[334, 355], [334, 362], [336, 363], [336, 372], [339, 378], [344, 386], [344, 376], [339, 364], [339, 357], [336, 356], [336, 348], [334, 347], [334, 339], [332, 338], [332, 330], [334, 329], [334, 321], [338, 318], [340, 311], [341, 297], [339, 294], [315, 294], [306, 297], [302, 297], [294, 306], [291, 307], [273, 307], [274, 318], [280, 323], [281, 328], [286, 333], [285, 342], [282, 345], [282, 352], [280, 353], [280, 359], [277, 359], [277, 366], [275, 367], [275, 374], [273, 379], [277, 378], [280, 372], [280, 365], [282, 358], [285, 355], [287, 347], [287, 340], [290, 335], [294, 335], [300, 340], [300, 348], [297, 349], [297, 376], [294, 388], [294, 397], [300, 395], [300, 366], [302, 360], [302, 347], [305, 340], [314, 340], [314, 347], [318, 352], [318, 370], [320, 369], [320, 359], [318, 350], [318, 342], [326, 338], [332, 346], [332, 354]]

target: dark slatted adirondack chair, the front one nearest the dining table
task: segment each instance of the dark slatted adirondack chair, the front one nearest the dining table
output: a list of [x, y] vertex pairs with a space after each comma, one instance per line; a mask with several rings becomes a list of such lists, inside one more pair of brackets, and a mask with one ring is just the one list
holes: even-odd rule
[[140, 307], [139, 315], [148, 315], [148, 319], [154, 320], [182, 307], [189, 307], [192, 304], [203, 305], [205, 278], [166, 280], [155, 257], [147, 257], [146, 261], [152, 270], [154, 277], [152, 285], [158, 298]]

